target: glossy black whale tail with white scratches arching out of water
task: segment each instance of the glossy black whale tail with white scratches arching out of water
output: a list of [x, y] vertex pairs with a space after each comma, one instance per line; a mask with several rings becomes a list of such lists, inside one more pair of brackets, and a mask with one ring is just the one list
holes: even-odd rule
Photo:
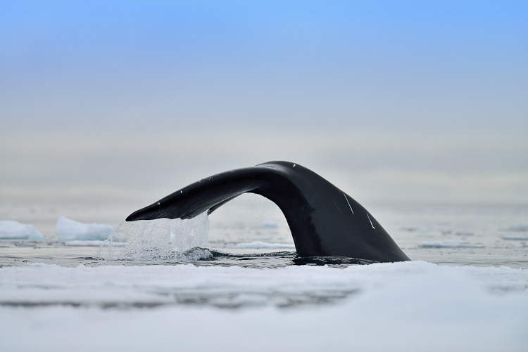
[[212, 213], [242, 193], [256, 193], [277, 204], [299, 256], [410, 260], [367, 209], [293, 162], [266, 162], [203, 178], [134, 211], [126, 221], [191, 219], [204, 211]]

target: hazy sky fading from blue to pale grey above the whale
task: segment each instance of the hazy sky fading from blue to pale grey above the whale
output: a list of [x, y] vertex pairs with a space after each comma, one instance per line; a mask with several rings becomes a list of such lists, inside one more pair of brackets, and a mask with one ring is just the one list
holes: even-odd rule
[[526, 1], [0, 4], [0, 199], [153, 202], [285, 159], [367, 202], [528, 202]]

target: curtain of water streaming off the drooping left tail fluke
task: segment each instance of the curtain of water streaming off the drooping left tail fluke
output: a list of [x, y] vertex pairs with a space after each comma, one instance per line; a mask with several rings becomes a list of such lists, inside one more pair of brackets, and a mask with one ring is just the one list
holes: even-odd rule
[[[155, 219], [122, 221], [101, 246], [97, 256], [106, 260], [200, 260], [210, 254], [207, 212], [193, 219]], [[113, 242], [127, 240], [115, 256]], [[104, 249], [108, 256], [101, 255]]]

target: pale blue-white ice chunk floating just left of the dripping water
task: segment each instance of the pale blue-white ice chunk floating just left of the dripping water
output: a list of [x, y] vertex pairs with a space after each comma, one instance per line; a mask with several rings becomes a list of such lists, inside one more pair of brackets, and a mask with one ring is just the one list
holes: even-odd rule
[[80, 223], [61, 216], [57, 220], [55, 233], [58, 240], [106, 240], [111, 234], [113, 226], [103, 223]]

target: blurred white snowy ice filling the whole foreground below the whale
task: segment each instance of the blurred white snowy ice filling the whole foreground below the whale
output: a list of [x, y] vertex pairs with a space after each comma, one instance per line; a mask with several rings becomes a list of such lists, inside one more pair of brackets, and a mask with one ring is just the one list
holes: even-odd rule
[[0, 349], [526, 351], [527, 287], [526, 269], [423, 261], [3, 267]]

